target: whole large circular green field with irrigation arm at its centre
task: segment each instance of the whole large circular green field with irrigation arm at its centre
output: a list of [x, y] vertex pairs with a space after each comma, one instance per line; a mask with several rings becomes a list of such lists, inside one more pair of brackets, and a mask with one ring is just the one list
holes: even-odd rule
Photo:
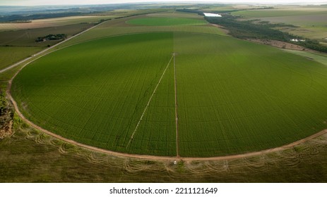
[[50, 53], [18, 73], [11, 94], [25, 117], [67, 139], [212, 157], [326, 129], [326, 84], [326, 66], [307, 58], [231, 37], [160, 32]]

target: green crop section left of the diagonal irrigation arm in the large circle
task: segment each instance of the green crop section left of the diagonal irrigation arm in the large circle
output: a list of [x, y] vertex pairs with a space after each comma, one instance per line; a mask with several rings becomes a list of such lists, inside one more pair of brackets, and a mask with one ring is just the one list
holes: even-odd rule
[[[158, 44], [160, 47], [157, 47]], [[80, 50], [84, 52], [80, 53]], [[76, 51], [78, 55], [71, 58], [70, 51]], [[150, 51], [153, 52], [150, 54]], [[35, 89], [37, 84], [42, 84], [43, 88], [48, 87], [48, 91], [43, 94], [45, 97], [28, 96], [28, 103], [26, 103], [28, 106], [35, 102], [41, 102], [40, 105], [42, 105], [26, 108], [25, 115], [28, 118], [42, 126], [45, 123], [44, 126], [47, 129], [56, 130], [58, 134], [68, 138], [77, 138], [76, 140], [85, 144], [97, 146], [99, 140], [102, 148], [125, 151], [126, 143], [136, 127], [136, 122], [141, 116], [144, 105], [148, 102], [148, 97], [158, 77], [170, 61], [171, 53], [172, 33], [134, 34], [71, 46], [26, 67], [26, 74], [30, 77], [34, 76], [34, 80], [25, 81], [30, 87], [25, 89], [20, 87], [23, 85], [20, 82], [30, 77], [19, 75], [23, 81], [15, 85], [14, 89], [20, 90], [13, 94], [16, 95], [16, 92], [20, 96], [37, 94], [38, 88]], [[59, 62], [56, 61], [58, 56], [61, 56]], [[95, 59], [99, 61], [95, 63]], [[67, 67], [67, 63], [71, 66]], [[48, 65], [47, 68], [43, 67], [44, 64]], [[43, 71], [47, 73], [35, 72], [34, 69], [45, 69]], [[100, 73], [103, 75], [99, 75]], [[45, 77], [46, 75], [51, 76]], [[57, 82], [61, 84], [56, 84]], [[66, 87], [68, 89], [61, 89], [66, 83], [70, 84]], [[121, 92], [121, 90], [124, 91]], [[69, 92], [74, 93], [69, 94]], [[66, 105], [65, 101], [76, 100], [76, 98], [78, 98], [78, 103], [73, 103], [69, 109], [55, 110], [58, 108], [57, 105]], [[48, 99], [54, 100], [47, 102]], [[24, 101], [20, 104], [24, 105]], [[59, 115], [60, 113], [65, 115]], [[101, 115], [102, 118], [96, 114]], [[46, 122], [43, 122], [42, 117], [46, 117]], [[67, 120], [76, 122], [69, 124]], [[80, 120], [86, 124], [81, 125]], [[125, 132], [121, 132], [123, 130]], [[160, 136], [157, 135], [157, 137], [156, 141], [160, 141]], [[165, 144], [166, 141], [162, 140], [162, 143]], [[138, 144], [138, 148], [139, 150], [135, 149], [135, 153], [146, 153], [145, 151], [148, 150], [159, 151], [159, 153], [151, 152], [151, 154], [164, 155], [168, 151], [161, 145], [159, 147], [162, 148], [161, 152], [160, 149], [151, 150], [142, 144]]]

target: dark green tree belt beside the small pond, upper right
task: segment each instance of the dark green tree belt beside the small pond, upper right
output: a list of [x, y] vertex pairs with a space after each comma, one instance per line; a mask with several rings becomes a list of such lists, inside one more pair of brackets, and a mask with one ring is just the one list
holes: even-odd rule
[[233, 37], [240, 39], [273, 39], [283, 42], [291, 42], [291, 39], [304, 39], [305, 42], [297, 42], [296, 44], [304, 46], [308, 49], [316, 51], [327, 52], [327, 46], [319, 44], [314, 39], [307, 39], [304, 37], [295, 36], [287, 32], [274, 29], [273, 27], [292, 27], [285, 24], [270, 24], [270, 23], [254, 23], [251, 20], [237, 20], [233, 15], [224, 15], [222, 18], [206, 18], [209, 23], [222, 25]]

